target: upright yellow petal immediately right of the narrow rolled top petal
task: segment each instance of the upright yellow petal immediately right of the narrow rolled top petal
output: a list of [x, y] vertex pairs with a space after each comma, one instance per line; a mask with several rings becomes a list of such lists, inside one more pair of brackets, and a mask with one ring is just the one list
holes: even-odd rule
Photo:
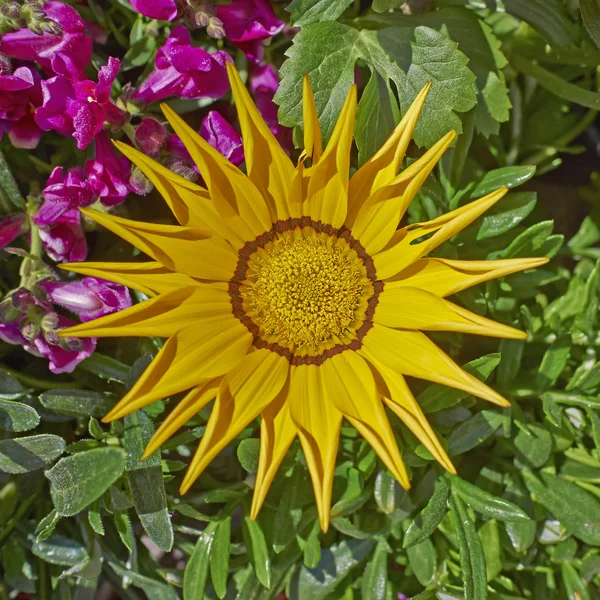
[[331, 139], [310, 173], [304, 214], [314, 221], [341, 227], [348, 209], [348, 173], [356, 115], [356, 86], [350, 87]]

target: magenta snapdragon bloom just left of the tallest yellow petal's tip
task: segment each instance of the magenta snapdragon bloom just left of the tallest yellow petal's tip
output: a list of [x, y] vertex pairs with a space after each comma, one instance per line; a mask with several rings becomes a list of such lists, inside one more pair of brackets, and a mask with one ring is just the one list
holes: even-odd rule
[[189, 31], [177, 25], [156, 53], [155, 69], [133, 99], [150, 104], [169, 96], [187, 100], [219, 98], [229, 89], [227, 60], [231, 57], [223, 50], [209, 54], [192, 46]]

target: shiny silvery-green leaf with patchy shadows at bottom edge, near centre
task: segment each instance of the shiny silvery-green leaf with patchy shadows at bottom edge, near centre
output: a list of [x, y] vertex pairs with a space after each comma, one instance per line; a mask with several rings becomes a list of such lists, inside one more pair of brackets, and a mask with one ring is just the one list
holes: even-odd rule
[[328, 600], [338, 584], [371, 553], [375, 542], [348, 540], [323, 550], [315, 569], [300, 567], [290, 582], [290, 600]]

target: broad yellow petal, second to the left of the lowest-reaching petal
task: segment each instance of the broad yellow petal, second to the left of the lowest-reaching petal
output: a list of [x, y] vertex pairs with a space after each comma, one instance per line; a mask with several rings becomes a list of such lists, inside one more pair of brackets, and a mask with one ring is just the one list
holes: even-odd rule
[[270, 350], [248, 354], [224, 378], [206, 431], [179, 491], [185, 494], [212, 459], [253, 421], [283, 388], [289, 372], [285, 358]]

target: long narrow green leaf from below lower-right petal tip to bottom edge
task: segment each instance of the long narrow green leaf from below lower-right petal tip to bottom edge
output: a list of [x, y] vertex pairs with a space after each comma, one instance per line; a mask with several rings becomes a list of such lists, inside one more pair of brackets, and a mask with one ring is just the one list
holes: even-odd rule
[[487, 598], [485, 555], [475, 524], [462, 500], [454, 494], [450, 496], [450, 512], [458, 539], [465, 600], [485, 600]]

